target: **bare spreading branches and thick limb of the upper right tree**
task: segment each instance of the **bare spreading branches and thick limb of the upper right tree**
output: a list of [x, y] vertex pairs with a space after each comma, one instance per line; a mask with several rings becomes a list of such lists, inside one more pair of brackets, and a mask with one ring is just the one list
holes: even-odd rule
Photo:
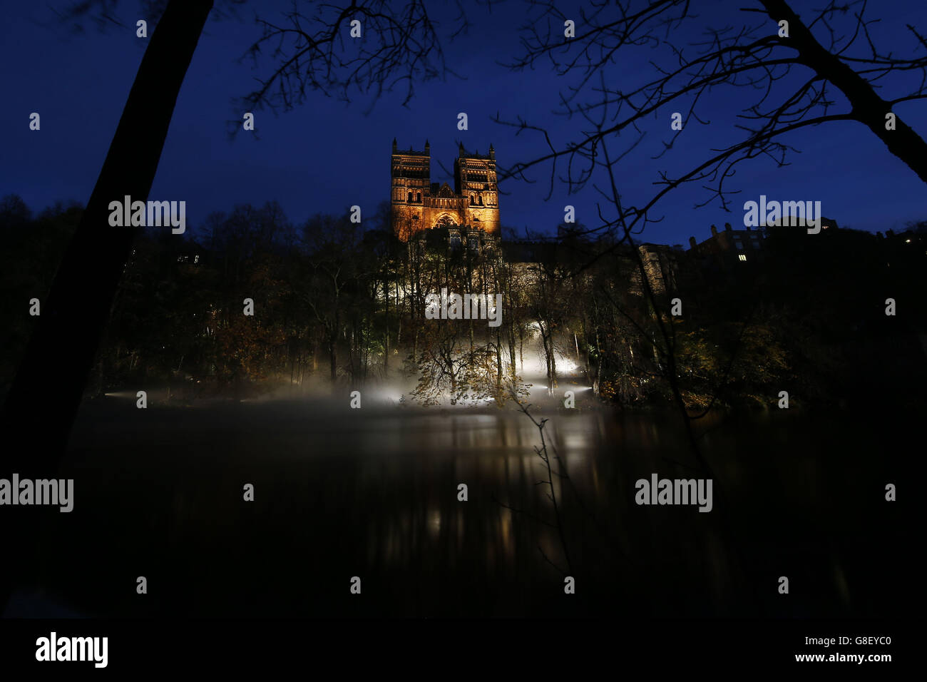
[[[730, 143], [684, 173], [657, 174], [654, 184], [660, 189], [624, 208], [634, 234], [654, 219], [652, 212], [659, 201], [684, 183], [701, 183], [709, 190], [700, 206], [718, 199], [728, 210], [732, 191], [728, 184], [743, 162], [768, 157], [780, 166], [787, 165], [788, 152], [794, 151], [785, 140], [787, 135], [823, 123], [862, 123], [927, 182], [927, 143], [895, 110], [903, 103], [927, 98], [927, 55], [899, 58], [878, 48], [870, 36], [870, 27], [878, 19], [867, 16], [868, 0], [831, 0], [808, 20], [801, 19], [785, 0], [756, 0], [756, 7], [741, 11], [763, 15], [763, 19], [708, 30], [705, 40], [690, 45], [674, 42], [679, 32], [699, 21], [688, 0], [590, 2], [588, 9], [579, 12], [577, 36], [566, 41], [563, 26], [569, 18], [563, 11], [552, 2], [532, 0], [529, 5], [533, 11], [523, 29], [522, 54], [508, 66], [520, 71], [546, 59], [558, 75], [573, 76], [574, 84], [561, 94], [559, 113], [578, 120], [580, 128], [575, 141], [559, 143], [537, 122], [497, 116], [497, 122], [512, 125], [519, 133], [539, 134], [546, 147], [537, 158], [502, 169], [500, 177], [527, 180], [527, 171], [550, 163], [551, 192], [558, 169], [569, 190], [577, 191], [598, 177], [593, 152], [603, 139], [630, 135], [623, 148], [613, 150], [613, 161], [620, 161], [641, 143], [646, 134], [641, 126], [656, 116], [668, 121], [668, 114], [678, 111], [682, 128], [663, 142], [655, 158], [663, 157], [690, 122], [707, 124], [711, 118], [708, 96], [732, 88], [742, 94], [743, 103], [739, 106], [741, 123], [733, 129]], [[921, 33], [913, 26], [907, 28], [911, 52], [927, 48]], [[633, 74], [624, 73], [617, 89], [614, 78], [605, 77], [606, 71], [615, 69], [619, 59], [640, 46], [654, 47], [665, 59], [651, 59], [653, 71], [646, 72], [655, 75], [639, 83], [629, 85], [625, 77]], [[893, 87], [902, 91], [881, 97], [879, 82], [889, 75], [898, 77]], [[610, 111], [605, 124], [591, 130], [582, 127], [587, 115], [599, 118], [604, 109]], [[889, 114], [894, 115], [892, 122]], [[598, 170], [601, 173], [601, 167]]]

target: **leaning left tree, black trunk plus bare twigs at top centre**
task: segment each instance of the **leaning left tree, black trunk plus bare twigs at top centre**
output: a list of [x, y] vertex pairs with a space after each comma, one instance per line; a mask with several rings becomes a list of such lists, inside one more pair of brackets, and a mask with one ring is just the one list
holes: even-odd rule
[[[101, 26], [119, 24], [112, 17], [116, 5], [115, 0], [77, 3], [63, 18], [70, 20], [90, 13]], [[42, 302], [42, 315], [6, 396], [2, 424], [8, 446], [3, 462], [8, 466], [4, 469], [19, 471], [23, 476], [51, 475], [64, 454], [101, 334], [139, 235], [139, 228], [110, 227], [108, 204], [125, 196], [141, 201], [148, 198], [177, 96], [213, 2], [142, 3], [149, 15], [161, 7], [163, 13], [146, 48], [107, 159], [47, 300]], [[439, 53], [440, 45], [421, 2], [352, 0], [340, 7], [322, 2], [307, 2], [304, 7], [314, 7], [330, 19], [315, 17], [322, 23], [314, 24], [319, 32], [311, 36], [298, 25], [286, 36], [281, 35], [298, 36], [297, 52], [286, 55], [280, 49], [274, 51], [273, 58], [281, 59], [280, 66], [266, 82], [267, 87], [253, 97], [256, 104], [289, 107], [302, 101], [307, 90], [337, 90], [343, 86], [347, 92], [351, 85], [365, 84], [378, 96], [403, 78], [411, 88], [421, 69], [425, 69], [425, 77], [430, 77], [443, 68], [442, 63], [436, 66], [431, 62], [431, 55], [436, 50]], [[295, 19], [301, 15], [295, 10], [288, 16]], [[340, 33], [349, 30], [349, 21], [354, 18], [368, 19], [380, 28], [378, 39], [383, 45], [368, 50], [340, 43], [344, 38]], [[265, 38], [270, 37], [273, 32], [265, 33]], [[308, 41], [308, 48], [300, 41]], [[255, 45], [252, 53], [257, 52], [260, 47]], [[270, 97], [272, 84], [279, 101]], [[27, 524], [20, 524], [19, 532], [23, 539], [33, 535]], [[7, 596], [6, 589], [0, 591], [0, 605]]]

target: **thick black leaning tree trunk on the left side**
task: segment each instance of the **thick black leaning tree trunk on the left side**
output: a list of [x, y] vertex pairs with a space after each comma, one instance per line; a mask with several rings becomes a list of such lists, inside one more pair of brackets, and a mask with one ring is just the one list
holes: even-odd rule
[[[5, 447], [0, 455], [0, 470], [6, 473], [51, 478], [64, 455], [138, 233], [138, 228], [109, 226], [108, 205], [126, 196], [132, 200], [148, 198], [174, 105], [211, 8], [211, 0], [171, 0], [151, 36], [103, 169], [51, 291], [42, 302], [42, 315], [36, 318], [6, 397], [2, 417]], [[75, 481], [75, 486], [79, 485]], [[75, 505], [80, 505], [79, 487], [74, 497]], [[20, 557], [32, 555], [29, 543], [36, 539], [38, 518], [37, 513], [18, 514], [17, 521], [9, 524], [12, 528], [6, 529], [6, 542], [16, 547]], [[21, 570], [29, 571], [31, 566], [30, 561], [23, 561]], [[10, 567], [12, 564], [5, 566]], [[0, 611], [16, 579], [6, 577], [0, 584]]]

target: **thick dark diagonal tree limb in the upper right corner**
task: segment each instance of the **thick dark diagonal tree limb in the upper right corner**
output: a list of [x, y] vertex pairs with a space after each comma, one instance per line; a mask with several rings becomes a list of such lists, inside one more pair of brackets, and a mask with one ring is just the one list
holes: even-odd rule
[[[782, 40], [798, 50], [798, 61], [840, 90], [853, 107], [853, 117], [868, 127], [889, 151], [927, 183], [927, 142], [921, 135], [892, 111], [892, 106], [876, 94], [866, 79], [821, 45], [785, 0], [761, 2], [771, 19], [789, 22], [789, 37]], [[885, 114], [889, 112], [895, 113], [895, 130], [885, 129]]]

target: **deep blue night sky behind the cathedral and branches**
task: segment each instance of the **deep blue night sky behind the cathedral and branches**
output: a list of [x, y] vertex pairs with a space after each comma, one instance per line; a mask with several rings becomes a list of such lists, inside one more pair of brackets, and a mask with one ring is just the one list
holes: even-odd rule
[[[694, 25], [740, 23], [743, 13], [737, 7], [744, 4], [748, 0], [706, 3], [709, 8], [701, 10]], [[260, 13], [276, 18], [288, 5], [262, 2]], [[819, 5], [808, 0], [793, 3], [800, 13]], [[433, 6], [435, 16], [446, 19], [450, 28], [453, 11], [440, 2]], [[147, 43], [135, 37], [136, 9], [133, 2], [121, 4], [117, 16], [125, 29], [113, 26], [101, 33], [87, 21], [86, 31], [74, 34], [54, 22], [47, 6], [6, 6], [0, 24], [0, 194], [19, 194], [33, 211], [58, 199], [83, 203], [89, 198]], [[516, 29], [525, 17], [523, 4], [508, 0], [492, 14], [474, 6], [468, 34], [446, 45], [448, 64], [466, 80], [449, 76], [421, 84], [406, 109], [400, 106], [400, 93], [384, 97], [367, 116], [368, 100], [363, 98], [348, 107], [335, 98], [311, 94], [306, 104], [279, 116], [258, 112], [260, 139], [242, 133], [230, 140], [228, 122], [241, 121], [232, 98], [247, 94], [254, 76], [268, 73], [272, 63], [265, 58], [254, 70], [248, 59], [238, 62], [260, 34], [253, 11], [246, 6], [240, 20], [210, 20], [174, 111], [150, 199], [185, 199], [188, 225], [197, 225], [209, 212], [230, 210], [235, 203], [268, 199], [277, 199], [295, 223], [314, 212], [346, 211], [351, 204], [360, 204], [369, 216], [389, 196], [388, 158], [394, 136], [400, 148], [420, 149], [425, 138], [430, 140], [432, 181], [438, 182], [451, 180], [438, 162], [451, 169], [459, 141], [484, 154], [492, 142], [502, 165], [543, 151], [537, 136], [516, 138], [514, 129], [491, 122], [497, 111], [504, 118], [522, 115], [547, 125], [561, 142], [576, 138], [582, 129], [578, 122], [552, 115], [564, 79], [546, 66], [513, 74], [496, 64], [516, 54]], [[877, 45], [891, 46], [899, 57], [921, 55], [904, 27], [910, 23], [927, 32], [927, 4], [883, 0], [870, 12], [883, 19], [873, 31]], [[696, 37], [692, 32], [684, 36]], [[638, 54], [645, 56], [650, 55]], [[640, 83], [640, 60], [633, 59], [629, 54], [629, 60], [607, 71], [612, 87]], [[907, 93], [904, 81], [886, 79], [884, 85], [885, 98]], [[713, 97], [705, 109], [711, 124], [692, 122], [671, 160], [649, 159], [662, 148], [661, 137], [669, 134], [667, 111], [641, 148], [621, 163], [618, 179], [629, 203], [644, 202], [657, 171], [695, 165], [706, 148], [717, 147], [713, 142], [731, 139], [730, 126], [743, 94], [726, 90]], [[32, 111], [42, 116], [39, 132], [29, 130]], [[468, 131], [457, 130], [459, 111], [469, 116]], [[896, 112], [927, 137], [927, 102], [908, 102]], [[725, 213], [717, 203], [693, 209], [705, 193], [687, 187], [665, 200], [665, 220], [648, 228], [644, 238], [670, 244], [686, 243], [690, 235], [702, 240], [712, 223], [736, 226], [743, 218], [743, 201], [760, 194], [821, 200], [824, 215], [841, 226], [870, 231], [927, 219], [927, 186], [861, 125], [832, 123], [795, 133], [787, 141], [802, 150], [792, 157], [790, 167], [777, 169], [771, 161], [756, 161], [742, 168], [734, 183], [743, 190], [735, 212]], [[539, 182], [533, 186], [513, 181], [502, 185], [507, 193], [501, 198], [502, 225], [550, 231], [562, 221], [567, 203], [577, 206], [579, 222], [595, 223], [596, 194], [591, 189], [567, 198], [565, 187], [557, 185], [552, 199], [544, 200], [548, 173], [546, 168], [535, 172]]]

